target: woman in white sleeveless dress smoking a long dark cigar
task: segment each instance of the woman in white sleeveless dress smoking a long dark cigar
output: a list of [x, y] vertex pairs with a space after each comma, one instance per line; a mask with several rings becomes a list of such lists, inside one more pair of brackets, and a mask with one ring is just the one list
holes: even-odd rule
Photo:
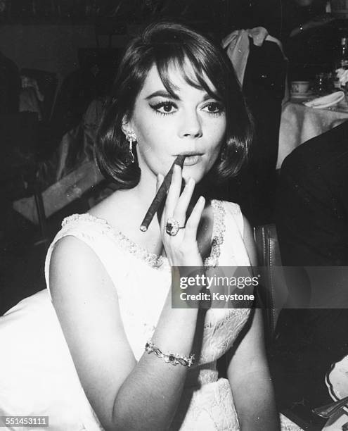
[[[4, 316], [1, 342], [16, 342], [1, 359], [1, 414], [46, 414], [55, 430], [278, 430], [259, 310], [170, 301], [171, 266], [254, 263], [239, 207], [195, 190], [203, 177], [235, 175], [250, 137], [233, 69], [205, 37], [158, 23], [131, 42], [96, 149], [119, 189], [65, 219], [51, 244], [56, 314], [42, 291]], [[141, 232], [179, 154], [162, 217]], [[223, 354], [228, 380], [217, 378]]]

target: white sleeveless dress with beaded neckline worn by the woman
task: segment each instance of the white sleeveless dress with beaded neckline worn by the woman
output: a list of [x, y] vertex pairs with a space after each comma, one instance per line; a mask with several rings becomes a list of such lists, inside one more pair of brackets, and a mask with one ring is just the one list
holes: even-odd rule
[[[205, 265], [249, 266], [239, 206], [212, 201], [212, 208], [212, 251]], [[160, 317], [171, 285], [167, 259], [148, 253], [101, 218], [89, 214], [66, 218], [46, 256], [47, 289], [23, 299], [0, 318], [0, 416], [49, 416], [51, 431], [102, 430], [79, 382], [49, 294], [53, 247], [67, 235], [88, 244], [108, 271], [136, 360]], [[207, 311], [200, 358], [188, 370], [171, 430], [239, 430], [231, 387], [228, 380], [218, 379], [216, 361], [233, 345], [249, 316], [249, 308]], [[283, 430], [299, 429], [283, 420]], [[38, 429], [45, 428], [33, 428]]]

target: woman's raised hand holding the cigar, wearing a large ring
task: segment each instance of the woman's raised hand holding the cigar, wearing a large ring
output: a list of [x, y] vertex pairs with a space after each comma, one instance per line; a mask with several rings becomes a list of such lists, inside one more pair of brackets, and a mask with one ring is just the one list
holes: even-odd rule
[[[163, 176], [159, 174], [157, 176], [157, 188], [160, 187], [162, 181]], [[172, 183], [169, 187], [165, 208], [160, 221], [162, 242], [171, 266], [200, 267], [203, 266], [203, 261], [198, 250], [197, 231], [202, 211], [205, 208], [205, 199], [203, 196], [200, 196], [200, 199], [198, 199], [190, 216], [186, 220], [188, 206], [195, 189], [195, 181], [190, 178], [186, 182], [183, 192], [180, 194], [181, 183], [181, 168], [179, 165], [175, 165]], [[183, 229], [179, 229], [174, 236], [169, 235], [165, 229], [169, 218], [174, 218], [180, 227], [185, 226]]]

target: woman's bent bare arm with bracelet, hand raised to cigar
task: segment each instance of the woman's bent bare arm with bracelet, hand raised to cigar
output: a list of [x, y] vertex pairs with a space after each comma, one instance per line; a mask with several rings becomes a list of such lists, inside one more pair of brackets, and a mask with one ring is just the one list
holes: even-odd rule
[[[178, 187], [173, 187], [167, 199], [166, 218], [170, 206], [185, 213], [183, 201], [190, 200], [194, 187], [191, 184], [179, 199], [174, 192], [180, 191], [181, 174], [176, 173], [174, 182]], [[176, 243], [171, 242], [171, 237], [164, 239], [172, 265], [183, 265], [185, 260], [188, 265], [201, 265], [197, 244], [187, 242], [184, 235], [196, 237], [203, 208], [204, 201], [200, 201], [188, 219], [183, 237], [175, 237]], [[189, 252], [184, 254], [184, 249]], [[74, 237], [61, 239], [51, 258], [50, 285], [79, 379], [103, 427], [167, 429], [181, 397], [187, 367], [172, 366], [147, 353], [136, 362], [124, 332], [117, 291], [94, 251]], [[169, 292], [153, 342], [166, 353], [188, 356], [197, 314], [197, 309], [172, 309]]]

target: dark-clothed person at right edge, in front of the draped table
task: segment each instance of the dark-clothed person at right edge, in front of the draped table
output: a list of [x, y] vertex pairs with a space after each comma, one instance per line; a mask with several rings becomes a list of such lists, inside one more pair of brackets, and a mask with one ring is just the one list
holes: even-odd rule
[[296, 267], [285, 268], [290, 308], [280, 313], [273, 345], [285, 406], [330, 402], [326, 373], [348, 354], [347, 142], [345, 121], [298, 146], [281, 168], [276, 227], [283, 266]]

